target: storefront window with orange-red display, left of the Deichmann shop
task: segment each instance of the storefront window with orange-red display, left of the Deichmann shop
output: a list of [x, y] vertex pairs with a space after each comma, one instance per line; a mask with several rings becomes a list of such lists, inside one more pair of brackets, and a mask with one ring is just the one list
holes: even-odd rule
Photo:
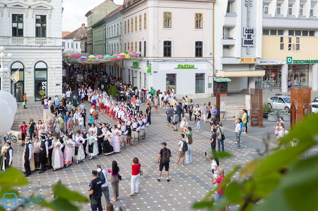
[[281, 65], [264, 65], [263, 87], [281, 87]]

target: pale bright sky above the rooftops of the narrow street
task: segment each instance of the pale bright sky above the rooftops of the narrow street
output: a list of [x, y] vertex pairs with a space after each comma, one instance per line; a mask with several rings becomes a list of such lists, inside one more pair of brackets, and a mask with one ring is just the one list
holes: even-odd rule
[[[62, 31], [72, 32], [85, 23], [87, 19], [85, 14], [105, 0], [63, 0], [64, 7], [62, 17]], [[124, 0], [114, 0], [115, 4], [121, 5]]]

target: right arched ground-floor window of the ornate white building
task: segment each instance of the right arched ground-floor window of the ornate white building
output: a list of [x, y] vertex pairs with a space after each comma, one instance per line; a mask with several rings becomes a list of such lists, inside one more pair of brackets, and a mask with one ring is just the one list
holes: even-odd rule
[[34, 67], [34, 99], [40, 101], [42, 96], [47, 96], [47, 66], [40, 61]]

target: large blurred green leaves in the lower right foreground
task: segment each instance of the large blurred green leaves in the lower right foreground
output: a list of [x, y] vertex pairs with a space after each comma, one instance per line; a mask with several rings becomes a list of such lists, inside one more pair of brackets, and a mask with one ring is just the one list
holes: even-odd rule
[[[304, 153], [317, 147], [318, 115], [306, 117], [281, 140], [282, 145], [244, 167], [236, 166], [224, 183], [193, 205], [218, 211], [239, 205], [239, 211], [317, 211], [318, 155], [304, 159]], [[291, 141], [297, 145], [291, 146]], [[265, 141], [266, 148], [268, 142]], [[215, 193], [240, 171], [240, 180], [231, 181], [224, 198], [215, 205]]]

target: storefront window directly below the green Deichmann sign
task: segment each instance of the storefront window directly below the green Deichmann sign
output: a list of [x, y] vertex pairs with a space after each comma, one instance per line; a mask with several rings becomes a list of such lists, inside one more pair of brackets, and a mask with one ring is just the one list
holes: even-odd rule
[[308, 86], [308, 64], [289, 64], [288, 80], [291, 86]]

